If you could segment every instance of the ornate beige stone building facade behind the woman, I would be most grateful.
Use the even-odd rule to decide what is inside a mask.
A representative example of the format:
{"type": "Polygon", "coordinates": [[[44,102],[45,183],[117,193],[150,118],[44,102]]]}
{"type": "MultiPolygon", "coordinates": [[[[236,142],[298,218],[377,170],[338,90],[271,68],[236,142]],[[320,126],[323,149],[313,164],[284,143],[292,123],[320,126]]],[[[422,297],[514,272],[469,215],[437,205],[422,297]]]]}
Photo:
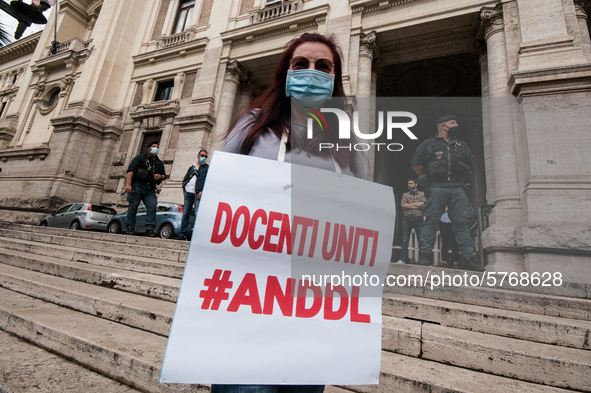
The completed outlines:
{"type": "MultiPolygon", "coordinates": [[[[198,150],[221,147],[289,40],[318,32],[342,49],[353,103],[481,98],[466,139],[472,200],[494,205],[487,269],[559,266],[588,281],[589,11],[581,0],[61,0],[57,53],[54,15],[0,49],[1,214],[125,206],[126,167],[154,138],[170,174],[159,199],[182,201],[198,150]]],[[[370,180],[399,197],[418,142],[369,152],[370,180]]]]}

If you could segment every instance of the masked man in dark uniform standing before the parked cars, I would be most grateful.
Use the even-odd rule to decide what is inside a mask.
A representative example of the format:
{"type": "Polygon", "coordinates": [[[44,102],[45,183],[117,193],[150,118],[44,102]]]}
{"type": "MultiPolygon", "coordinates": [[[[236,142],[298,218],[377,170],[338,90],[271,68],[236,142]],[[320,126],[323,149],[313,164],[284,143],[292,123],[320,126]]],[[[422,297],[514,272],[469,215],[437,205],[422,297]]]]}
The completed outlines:
{"type": "Polygon", "coordinates": [[[166,179],[164,163],[158,158],[159,143],[151,142],[147,154],[139,154],[131,160],[127,168],[125,192],[129,209],[127,210],[127,234],[135,232],[135,217],[140,201],[146,205],[146,235],[154,234],[156,226],[156,185],[166,179]]]}

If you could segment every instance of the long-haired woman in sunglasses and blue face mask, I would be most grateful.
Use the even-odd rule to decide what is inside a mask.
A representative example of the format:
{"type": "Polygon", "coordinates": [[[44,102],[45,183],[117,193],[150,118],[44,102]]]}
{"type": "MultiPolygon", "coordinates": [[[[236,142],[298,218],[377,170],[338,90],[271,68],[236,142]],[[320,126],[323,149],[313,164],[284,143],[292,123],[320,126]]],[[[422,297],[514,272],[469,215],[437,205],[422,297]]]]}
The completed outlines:
{"type": "Polygon", "coordinates": [[[322,148],[347,142],[338,139],[338,125],[331,124],[335,116],[319,111],[332,97],[343,97],[337,100],[343,106],[340,50],[331,37],[303,34],[288,45],[267,90],[230,129],[223,151],[365,178],[363,153],[322,148]],[[311,117],[318,121],[309,137],[311,117]]]}

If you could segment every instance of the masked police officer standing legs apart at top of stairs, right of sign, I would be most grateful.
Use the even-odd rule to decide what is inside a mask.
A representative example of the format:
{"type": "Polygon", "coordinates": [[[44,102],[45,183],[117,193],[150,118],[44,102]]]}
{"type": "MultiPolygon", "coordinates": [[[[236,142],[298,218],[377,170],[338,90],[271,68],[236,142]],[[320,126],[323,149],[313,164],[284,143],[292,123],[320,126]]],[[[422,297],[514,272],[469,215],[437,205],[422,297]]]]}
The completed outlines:
{"type": "Polygon", "coordinates": [[[412,159],[412,169],[419,176],[427,175],[429,183],[423,206],[426,221],[420,241],[419,264],[431,263],[430,250],[435,245],[439,219],[447,206],[456,242],[462,252],[462,267],[481,271],[474,256],[474,240],[468,226],[474,210],[464,187],[469,184],[468,175],[475,169],[474,157],[468,145],[457,139],[458,131],[455,116],[441,117],[437,120],[437,136],[421,143],[412,159]]]}

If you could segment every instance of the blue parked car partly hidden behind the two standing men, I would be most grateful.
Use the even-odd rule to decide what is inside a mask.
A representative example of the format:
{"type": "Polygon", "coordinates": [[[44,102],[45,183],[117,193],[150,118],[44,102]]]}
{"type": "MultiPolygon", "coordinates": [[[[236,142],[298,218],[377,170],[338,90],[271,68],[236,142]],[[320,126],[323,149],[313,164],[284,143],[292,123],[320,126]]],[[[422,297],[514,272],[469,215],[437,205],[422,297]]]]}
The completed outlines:
{"type": "MultiPolygon", "coordinates": [[[[172,239],[179,235],[181,231],[181,221],[183,220],[183,205],[170,202],[158,202],[156,206],[156,226],[154,232],[163,239],[172,239]]],[[[107,230],[109,233],[127,232],[127,212],[119,213],[111,218],[107,230]]],[[[189,228],[192,231],[195,224],[195,209],[191,211],[189,218],[189,228]]],[[[135,233],[146,232],[146,206],[141,204],[137,209],[135,219],[135,233]]]]}

